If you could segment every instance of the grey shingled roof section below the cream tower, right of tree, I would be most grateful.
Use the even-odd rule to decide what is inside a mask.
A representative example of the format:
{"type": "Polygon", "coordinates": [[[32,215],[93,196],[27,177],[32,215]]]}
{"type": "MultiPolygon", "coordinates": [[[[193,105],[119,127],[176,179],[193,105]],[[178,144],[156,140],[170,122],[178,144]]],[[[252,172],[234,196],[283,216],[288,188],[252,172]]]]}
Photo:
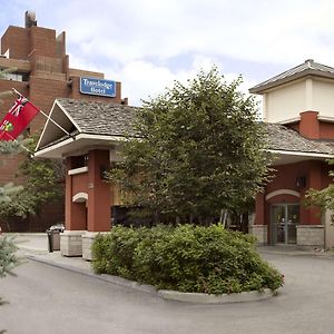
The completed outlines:
{"type": "Polygon", "coordinates": [[[268,148],[275,151],[295,151],[307,154],[334,154],[333,141],[311,140],[296,130],[278,124],[265,124],[268,148]]]}

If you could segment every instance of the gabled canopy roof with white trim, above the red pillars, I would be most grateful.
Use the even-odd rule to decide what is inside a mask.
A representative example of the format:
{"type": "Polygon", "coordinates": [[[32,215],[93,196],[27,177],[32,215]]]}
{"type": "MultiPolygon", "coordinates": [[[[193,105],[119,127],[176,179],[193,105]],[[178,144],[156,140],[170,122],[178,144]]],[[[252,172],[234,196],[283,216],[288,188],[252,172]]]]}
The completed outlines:
{"type": "Polygon", "coordinates": [[[36,148],[36,157],[78,156],[89,149],[114,147],[132,130],[138,108],[68,98],[56,99],[36,148]],[[50,118],[62,127],[55,125],[50,118]]]}

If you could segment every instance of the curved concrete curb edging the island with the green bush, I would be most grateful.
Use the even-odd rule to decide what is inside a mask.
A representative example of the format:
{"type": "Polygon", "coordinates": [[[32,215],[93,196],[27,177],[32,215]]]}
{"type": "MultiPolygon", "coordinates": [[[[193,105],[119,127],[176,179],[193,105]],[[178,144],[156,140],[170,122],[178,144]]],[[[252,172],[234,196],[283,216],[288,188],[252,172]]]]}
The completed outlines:
{"type": "Polygon", "coordinates": [[[129,281],[119,276],[112,276],[107,274],[97,275],[86,269],[81,269],[75,266],[60,264],[55,261],[49,261],[41,258],[40,256],[36,255],[27,255],[27,258],[31,261],[36,261],[39,263],[43,263],[50,266],[59,267],[62,269],[71,271],[81,275],[86,275],[89,277],[94,277],[104,282],[117,284],[120,286],[129,287],[135,291],[139,291],[143,293],[147,293],[150,295],[155,295],[160,297],[165,301],[176,301],[176,302],[184,302],[184,303],[197,303],[197,304],[227,304],[227,303],[246,303],[246,302],[258,302],[263,299],[267,299],[269,297],[276,296],[278,292],[272,292],[271,289],[266,288],[263,292],[252,291],[252,292],[243,292],[239,294],[223,294],[223,295],[209,295],[209,294],[202,294],[202,293],[183,293],[178,291],[170,291],[170,289],[159,289],[157,291],[154,286],[147,284],[139,284],[135,281],[129,281]]]}

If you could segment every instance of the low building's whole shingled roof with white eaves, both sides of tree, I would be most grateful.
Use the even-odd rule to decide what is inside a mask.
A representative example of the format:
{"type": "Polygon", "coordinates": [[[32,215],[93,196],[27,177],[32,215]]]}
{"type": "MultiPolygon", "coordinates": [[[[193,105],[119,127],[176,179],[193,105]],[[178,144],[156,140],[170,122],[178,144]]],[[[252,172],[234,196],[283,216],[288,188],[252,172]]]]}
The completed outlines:
{"type": "MultiPolygon", "coordinates": [[[[51,118],[71,134],[65,136],[52,122],[47,121],[37,153],[46,157],[56,157],[75,151],[85,145],[110,145],[122,140],[126,135],[136,136],[134,121],[139,108],[105,104],[89,100],[57,99],[51,118]],[[73,140],[75,139],[75,140],[73,140]],[[89,141],[90,140],[90,141],[89,141]]],[[[264,124],[267,129],[268,149],[283,155],[330,156],[334,154],[334,144],[311,140],[296,130],[278,124],[264,124]]]]}

